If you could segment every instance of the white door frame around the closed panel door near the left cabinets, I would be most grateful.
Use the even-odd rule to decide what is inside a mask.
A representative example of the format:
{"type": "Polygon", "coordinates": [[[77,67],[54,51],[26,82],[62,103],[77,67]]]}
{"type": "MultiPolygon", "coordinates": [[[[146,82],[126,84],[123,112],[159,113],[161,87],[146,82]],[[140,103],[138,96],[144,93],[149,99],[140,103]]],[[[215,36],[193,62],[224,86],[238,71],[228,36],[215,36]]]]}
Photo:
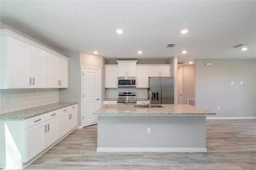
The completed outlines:
{"type": "Polygon", "coordinates": [[[81,127],[84,127],[84,81],[83,81],[83,69],[93,69],[93,70],[98,70],[99,71],[99,76],[100,76],[100,98],[101,98],[101,102],[100,102],[100,107],[102,107],[102,84],[101,84],[101,68],[96,68],[96,67],[86,67],[86,66],[81,66],[81,127]]]}

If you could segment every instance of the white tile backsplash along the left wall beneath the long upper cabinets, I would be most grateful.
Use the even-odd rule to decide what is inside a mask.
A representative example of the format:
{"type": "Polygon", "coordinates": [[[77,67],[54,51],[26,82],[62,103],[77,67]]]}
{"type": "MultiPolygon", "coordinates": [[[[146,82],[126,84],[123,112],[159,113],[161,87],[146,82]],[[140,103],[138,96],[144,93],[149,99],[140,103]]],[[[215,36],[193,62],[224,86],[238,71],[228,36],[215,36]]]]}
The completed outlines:
{"type": "Polygon", "coordinates": [[[0,114],[59,102],[59,89],[0,89],[0,114]]]}

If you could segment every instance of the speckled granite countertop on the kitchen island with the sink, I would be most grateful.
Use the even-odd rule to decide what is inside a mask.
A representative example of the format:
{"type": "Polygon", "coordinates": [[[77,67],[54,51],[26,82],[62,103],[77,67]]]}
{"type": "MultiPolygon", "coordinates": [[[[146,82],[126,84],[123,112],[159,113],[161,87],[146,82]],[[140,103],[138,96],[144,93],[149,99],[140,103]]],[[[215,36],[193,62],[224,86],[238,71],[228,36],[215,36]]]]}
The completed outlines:
{"type": "Polygon", "coordinates": [[[93,115],[216,115],[191,105],[162,105],[160,108],[134,107],[134,105],[103,105],[93,115]]]}

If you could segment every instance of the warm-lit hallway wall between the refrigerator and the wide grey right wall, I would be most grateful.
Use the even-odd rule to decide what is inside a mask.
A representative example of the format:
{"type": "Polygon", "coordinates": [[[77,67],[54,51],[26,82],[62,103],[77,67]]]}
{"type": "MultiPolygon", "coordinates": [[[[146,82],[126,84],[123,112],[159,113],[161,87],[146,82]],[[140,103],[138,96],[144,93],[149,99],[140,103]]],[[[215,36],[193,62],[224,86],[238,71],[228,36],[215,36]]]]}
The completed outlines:
{"type": "Polygon", "coordinates": [[[182,74],[182,102],[188,104],[188,98],[194,98],[194,65],[178,67],[178,75],[182,74]]]}

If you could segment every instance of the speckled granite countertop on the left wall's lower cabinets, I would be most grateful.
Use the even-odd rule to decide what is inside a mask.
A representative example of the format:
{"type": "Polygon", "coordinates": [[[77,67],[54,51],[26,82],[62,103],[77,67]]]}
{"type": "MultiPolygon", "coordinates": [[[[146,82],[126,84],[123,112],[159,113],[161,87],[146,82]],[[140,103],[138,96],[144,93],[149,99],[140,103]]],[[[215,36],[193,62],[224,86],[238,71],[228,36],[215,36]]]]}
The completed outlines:
{"type": "Polygon", "coordinates": [[[52,103],[49,105],[43,105],[38,107],[32,107],[29,109],[3,113],[3,114],[0,114],[0,119],[28,119],[38,115],[42,115],[44,113],[48,113],[64,107],[68,107],[76,103],[78,102],[58,102],[58,103],[52,103]]]}

